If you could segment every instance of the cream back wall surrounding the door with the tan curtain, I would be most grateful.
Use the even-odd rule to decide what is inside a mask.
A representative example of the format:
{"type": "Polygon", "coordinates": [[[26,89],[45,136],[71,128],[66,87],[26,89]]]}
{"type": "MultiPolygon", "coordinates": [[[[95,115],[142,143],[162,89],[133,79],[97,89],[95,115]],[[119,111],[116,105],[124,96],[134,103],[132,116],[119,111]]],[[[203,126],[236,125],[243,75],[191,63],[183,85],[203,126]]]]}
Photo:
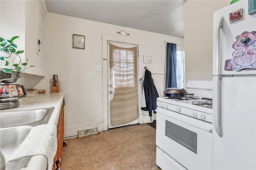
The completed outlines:
{"type": "Polygon", "coordinates": [[[104,109],[102,35],[142,41],[140,56],[151,55],[152,64],[143,63],[140,57],[138,76],[139,78],[142,76],[144,66],[147,66],[152,72],[159,96],[162,96],[164,91],[166,58],[164,42],[184,43],[183,38],[179,37],[59,14],[46,14],[46,76],[44,78],[27,77],[22,84],[28,87],[40,81],[31,88],[44,88],[49,92],[52,89],[52,75],[58,74],[60,92],[64,92],[66,101],[65,137],[77,135],[77,130],[90,129],[88,127],[98,127],[98,131],[102,131],[104,109]],[[130,35],[124,36],[116,33],[123,29],[130,35]],[[72,34],[85,35],[85,49],[72,48],[72,34]],[[101,71],[95,71],[96,65],[101,66],[101,71]]]}

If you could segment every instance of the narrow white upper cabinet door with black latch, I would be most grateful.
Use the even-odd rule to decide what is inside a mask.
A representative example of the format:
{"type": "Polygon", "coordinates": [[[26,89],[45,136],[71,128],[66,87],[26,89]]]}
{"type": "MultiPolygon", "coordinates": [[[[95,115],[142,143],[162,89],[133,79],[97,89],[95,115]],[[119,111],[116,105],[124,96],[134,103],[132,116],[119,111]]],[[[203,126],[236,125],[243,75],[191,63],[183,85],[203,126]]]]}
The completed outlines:
{"type": "MultiPolygon", "coordinates": [[[[45,47],[45,13],[40,0],[36,1],[36,41],[40,40],[40,45],[38,44],[37,49],[37,62],[36,68],[38,70],[37,74],[40,76],[45,76],[45,56],[44,56],[44,47],[45,47]]],[[[38,42],[39,43],[39,42],[38,42]]]]}

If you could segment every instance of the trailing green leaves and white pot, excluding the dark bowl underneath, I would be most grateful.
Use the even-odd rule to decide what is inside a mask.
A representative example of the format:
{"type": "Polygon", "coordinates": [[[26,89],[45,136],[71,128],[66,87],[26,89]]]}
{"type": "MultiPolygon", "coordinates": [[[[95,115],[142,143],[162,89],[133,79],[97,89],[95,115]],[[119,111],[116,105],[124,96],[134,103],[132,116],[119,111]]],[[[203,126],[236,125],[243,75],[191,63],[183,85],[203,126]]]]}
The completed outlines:
{"type": "Polygon", "coordinates": [[[21,57],[19,54],[24,53],[24,50],[17,51],[17,45],[13,42],[18,37],[19,36],[12,37],[10,40],[0,37],[0,68],[5,73],[12,73],[12,70],[22,72],[30,67],[34,67],[29,66],[28,68],[26,68],[28,63],[21,62],[21,57]],[[17,56],[20,58],[20,61],[19,63],[14,63],[17,56]]]}

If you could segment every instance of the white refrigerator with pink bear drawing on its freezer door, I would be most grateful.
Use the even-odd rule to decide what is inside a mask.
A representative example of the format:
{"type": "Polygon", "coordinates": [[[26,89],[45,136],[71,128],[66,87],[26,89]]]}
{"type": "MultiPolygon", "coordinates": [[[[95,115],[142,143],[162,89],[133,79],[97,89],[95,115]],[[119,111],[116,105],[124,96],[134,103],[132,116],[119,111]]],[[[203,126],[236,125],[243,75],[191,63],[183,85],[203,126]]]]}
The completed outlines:
{"type": "Polygon", "coordinates": [[[256,169],[256,14],[214,13],[212,169],[256,169]],[[254,63],[255,62],[255,63],[254,63]]]}

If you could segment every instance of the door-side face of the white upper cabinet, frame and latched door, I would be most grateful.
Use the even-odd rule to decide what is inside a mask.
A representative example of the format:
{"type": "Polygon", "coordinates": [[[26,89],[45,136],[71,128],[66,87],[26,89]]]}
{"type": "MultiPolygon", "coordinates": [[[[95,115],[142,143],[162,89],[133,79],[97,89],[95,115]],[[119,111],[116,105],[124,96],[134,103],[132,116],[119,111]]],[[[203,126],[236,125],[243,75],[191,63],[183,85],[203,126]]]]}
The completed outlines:
{"type": "Polygon", "coordinates": [[[44,9],[40,0],[25,2],[25,61],[28,61],[28,66],[35,65],[35,67],[31,67],[25,72],[45,76],[44,9]]]}

